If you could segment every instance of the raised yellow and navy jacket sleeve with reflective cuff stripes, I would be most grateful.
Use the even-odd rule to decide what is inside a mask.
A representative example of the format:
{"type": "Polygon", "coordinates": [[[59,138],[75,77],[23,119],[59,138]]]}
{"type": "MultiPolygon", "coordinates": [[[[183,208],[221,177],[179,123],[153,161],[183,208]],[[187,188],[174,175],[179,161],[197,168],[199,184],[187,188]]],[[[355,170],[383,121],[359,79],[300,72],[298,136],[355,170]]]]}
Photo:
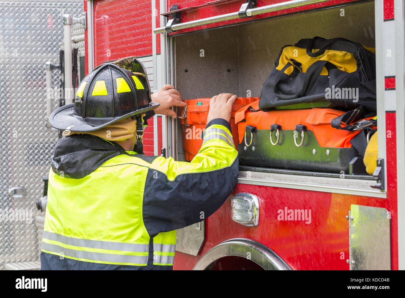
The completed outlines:
{"type": "Polygon", "coordinates": [[[152,161],[143,196],[143,221],[150,235],[200,222],[224,204],[239,174],[230,131],[226,120],[214,119],[190,163],[171,157],[152,161]]]}

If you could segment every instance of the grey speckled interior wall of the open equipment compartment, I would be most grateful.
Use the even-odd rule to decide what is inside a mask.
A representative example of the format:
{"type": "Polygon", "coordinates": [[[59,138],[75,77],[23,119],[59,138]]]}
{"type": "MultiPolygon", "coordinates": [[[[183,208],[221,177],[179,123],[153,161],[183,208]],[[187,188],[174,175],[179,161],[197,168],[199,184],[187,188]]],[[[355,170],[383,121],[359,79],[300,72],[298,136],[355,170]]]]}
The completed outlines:
{"type": "MultiPolygon", "coordinates": [[[[183,99],[222,92],[260,96],[284,45],[321,36],[343,37],[374,47],[374,32],[371,1],[179,35],[174,37],[175,86],[183,99]]],[[[179,120],[176,123],[178,150],[174,155],[183,160],[181,124],[179,120]]]]}

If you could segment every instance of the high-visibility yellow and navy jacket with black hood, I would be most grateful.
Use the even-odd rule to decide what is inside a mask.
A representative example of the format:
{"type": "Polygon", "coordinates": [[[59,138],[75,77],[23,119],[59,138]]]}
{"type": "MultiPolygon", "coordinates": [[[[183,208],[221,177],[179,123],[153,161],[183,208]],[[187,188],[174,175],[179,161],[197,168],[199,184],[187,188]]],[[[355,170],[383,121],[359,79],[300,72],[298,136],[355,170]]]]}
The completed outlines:
{"type": "Polygon", "coordinates": [[[92,135],[55,146],[41,269],[172,269],[176,229],[209,217],[237,182],[230,125],[211,121],[194,159],[146,156],[92,135]]]}

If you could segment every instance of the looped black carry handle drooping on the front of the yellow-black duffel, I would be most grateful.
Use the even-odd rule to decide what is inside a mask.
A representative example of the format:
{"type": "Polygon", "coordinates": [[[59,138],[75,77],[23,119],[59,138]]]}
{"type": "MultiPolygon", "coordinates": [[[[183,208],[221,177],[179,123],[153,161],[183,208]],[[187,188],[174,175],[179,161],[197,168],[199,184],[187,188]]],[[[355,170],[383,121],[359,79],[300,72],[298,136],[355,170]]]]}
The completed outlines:
{"type": "Polygon", "coordinates": [[[290,62],[288,62],[283,67],[283,69],[281,69],[281,71],[279,71],[279,73],[277,73],[277,76],[274,81],[274,94],[280,99],[295,99],[295,98],[299,98],[299,97],[303,97],[303,96],[307,95],[309,93],[309,91],[311,91],[313,85],[315,85],[315,82],[318,79],[318,77],[320,76],[320,73],[322,72],[322,69],[324,67],[326,67],[326,69],[328,71],[330,71],[330,69],[337,68],[334,64],[330,63],[329,61],[318,60],[318,61],[312,63],[308,67],[307,71],[305,72],[305,76],[304,76],[303,88],[300,91],[298,91],[297,94],[295,94],[295,95],[279,94],[276,92],[277,84],[279,83],[284,71],[286,71],[286,69],[290,66],[297,67],[294,64],[291,64],[290,62]]]}

